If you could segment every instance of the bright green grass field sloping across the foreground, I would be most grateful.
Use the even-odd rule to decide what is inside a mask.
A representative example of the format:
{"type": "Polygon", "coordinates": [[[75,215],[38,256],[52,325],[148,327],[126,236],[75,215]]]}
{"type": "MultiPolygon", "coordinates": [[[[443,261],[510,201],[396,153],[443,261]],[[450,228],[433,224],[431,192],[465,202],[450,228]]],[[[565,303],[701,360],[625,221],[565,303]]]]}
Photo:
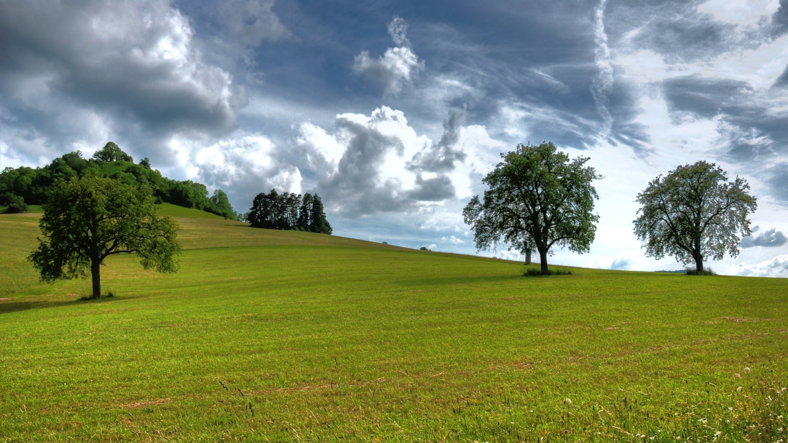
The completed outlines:
{"type": "Polygon", "coordinates": [[[788,279],[522,277],[161,211],[180,272],[114,257],[91,301],[36,281],[37,214],[0,215],[0,441],[788,437],[788,279]]]}

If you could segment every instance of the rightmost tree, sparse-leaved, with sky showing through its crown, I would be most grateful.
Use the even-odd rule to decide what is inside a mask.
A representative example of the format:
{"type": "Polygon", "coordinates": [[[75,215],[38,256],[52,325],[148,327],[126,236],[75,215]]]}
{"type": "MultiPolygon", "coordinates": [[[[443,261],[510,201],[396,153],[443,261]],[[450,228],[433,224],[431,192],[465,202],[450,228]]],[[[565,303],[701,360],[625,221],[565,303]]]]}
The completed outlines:
{"type": "Polygon", "coordinates": [[[656,177],[637,194],[639,216],[634,232],[646,255],[661,259],[675,256],[678,262],[695,262],[703,273],[704,258],[723,259],[738,255],[742,236],[749,236],[750,212],[757,208],[743,178],[729,182],[725,171],[704,161],[678,166],[667,176],[656,177]]]}

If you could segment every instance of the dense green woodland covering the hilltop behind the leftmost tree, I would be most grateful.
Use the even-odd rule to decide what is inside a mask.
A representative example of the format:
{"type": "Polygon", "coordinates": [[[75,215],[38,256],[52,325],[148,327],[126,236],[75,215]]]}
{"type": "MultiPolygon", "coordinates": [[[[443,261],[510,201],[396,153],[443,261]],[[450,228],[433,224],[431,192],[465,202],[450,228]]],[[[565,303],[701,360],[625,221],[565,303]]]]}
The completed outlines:
{"type": "Polygon", "coordinates": [[[9,212],[24,212],[28,204],[40,205],[46,202],[47,192],[55,181],[85,176],[109,177],[135,187],[148,184],[153,189],[157,203],[173,203],[232,220],[238,219],[238,214],[221,189],[209,196],[205,184],[162,177],[158,170],[151,169],[151,162],[147,158],[135,164],[131,155],[112,142],[106,143],[93,158],[83,158],[80,151],[73,151],[43,167],[3,169],[0,173],[0,206],[8,207],[9,212]]]}

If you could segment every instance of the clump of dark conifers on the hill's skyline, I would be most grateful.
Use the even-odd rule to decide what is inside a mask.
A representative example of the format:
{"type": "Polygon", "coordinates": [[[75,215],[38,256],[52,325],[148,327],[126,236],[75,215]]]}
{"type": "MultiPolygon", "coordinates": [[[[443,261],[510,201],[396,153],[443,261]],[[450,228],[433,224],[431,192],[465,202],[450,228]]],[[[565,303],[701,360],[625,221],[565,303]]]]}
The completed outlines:
{"type": "Polygon", "coordinates": [[[261,192],[255,197],[246,218],[255,228],[332,232],[320,196],[308,192],[303,197],[292,192],[279,194],[275,189],[268,194],[261,192]]]}

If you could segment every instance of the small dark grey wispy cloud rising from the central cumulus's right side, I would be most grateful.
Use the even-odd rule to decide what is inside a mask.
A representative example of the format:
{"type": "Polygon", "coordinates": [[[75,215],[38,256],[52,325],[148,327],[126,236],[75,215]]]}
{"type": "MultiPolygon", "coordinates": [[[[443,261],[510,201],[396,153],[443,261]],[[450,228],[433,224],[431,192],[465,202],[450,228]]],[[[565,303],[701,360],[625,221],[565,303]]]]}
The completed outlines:
{"type": "MultiPolygon", "coordinates": [[[[429,151],[419,152],[407,169],[445,173],[455,168],[455,162],[462,162],[467,157],[463,151],[455,149],[459,141],[459,130],[463,127],[465,112],[457,108],[448,110],[448,119],[444,121],[444,132],[438,143],[433,144],[429,151]]],[[[453,192],[452,192],[453,194],[453,192]]]]}

